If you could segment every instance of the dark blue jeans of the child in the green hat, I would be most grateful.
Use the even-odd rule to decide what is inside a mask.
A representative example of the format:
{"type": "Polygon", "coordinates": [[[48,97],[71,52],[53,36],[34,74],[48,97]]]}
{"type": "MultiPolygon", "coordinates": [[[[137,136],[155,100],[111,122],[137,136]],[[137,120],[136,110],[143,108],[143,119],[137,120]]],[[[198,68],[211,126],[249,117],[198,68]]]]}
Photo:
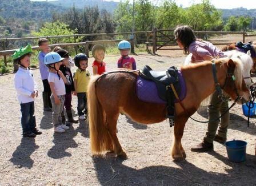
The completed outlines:
{"type": "Polygon", "coordinates": [[[35,128],[34,102],[21,103],[21,127],[23,133],[33,132],[35,128]]]}

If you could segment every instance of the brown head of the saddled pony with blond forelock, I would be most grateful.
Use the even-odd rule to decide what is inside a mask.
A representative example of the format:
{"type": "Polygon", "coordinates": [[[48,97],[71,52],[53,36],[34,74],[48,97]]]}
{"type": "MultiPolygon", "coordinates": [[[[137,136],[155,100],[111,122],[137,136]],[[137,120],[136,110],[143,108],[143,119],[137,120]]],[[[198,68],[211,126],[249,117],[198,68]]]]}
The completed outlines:
{"type": "MultiPolygon", "coordinates": [[[[237,103],[242,104],[249,101],[250,92],[243,79],[243,63],[239,58],[219,58],[217,61],[222,62],[222,68],[225,68],[226,79],[222,86],[232,99],[237,100],[237,103]]],[[[250,72],[250,69],[247,70],[250,72]]]]}

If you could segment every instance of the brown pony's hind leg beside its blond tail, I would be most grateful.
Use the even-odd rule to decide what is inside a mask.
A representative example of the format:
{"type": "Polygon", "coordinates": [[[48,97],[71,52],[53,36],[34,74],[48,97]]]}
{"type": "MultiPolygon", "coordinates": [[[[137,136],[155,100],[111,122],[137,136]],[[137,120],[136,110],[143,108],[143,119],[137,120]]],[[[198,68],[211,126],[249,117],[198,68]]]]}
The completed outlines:
{"type": "Polygon", "coordinates": [[[126,153],[123,151],[121,144],[117,138],[117,116],[107,116],[107,130],[109,131],[109,136],[113,143],[113,150],[118,157],[122,159],[127,159],[126,153]]]}

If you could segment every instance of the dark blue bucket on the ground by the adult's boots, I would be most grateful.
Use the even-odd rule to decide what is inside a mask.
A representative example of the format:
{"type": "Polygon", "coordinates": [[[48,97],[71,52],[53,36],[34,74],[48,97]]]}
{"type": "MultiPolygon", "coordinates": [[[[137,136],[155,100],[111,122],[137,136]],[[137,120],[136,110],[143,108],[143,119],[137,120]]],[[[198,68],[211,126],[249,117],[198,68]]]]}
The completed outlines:
{"type": "Polygon", "coordinates": [[[233,140],[227,141],[225,143],[227,148],[227,156],[229,157],[230,161],[233,162],[242,162],[245,161],[246,156],[246,141],[241,140],[233,140]]]}

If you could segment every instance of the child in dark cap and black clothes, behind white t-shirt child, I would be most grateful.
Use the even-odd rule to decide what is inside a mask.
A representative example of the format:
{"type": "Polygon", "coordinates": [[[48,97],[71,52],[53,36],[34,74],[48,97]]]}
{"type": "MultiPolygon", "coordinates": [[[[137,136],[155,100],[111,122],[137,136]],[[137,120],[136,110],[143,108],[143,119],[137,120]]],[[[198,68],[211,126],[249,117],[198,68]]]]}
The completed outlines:
{"type": "Polygon", "coordinates": [[[65,102],[64,106],[67,112],[67,123],[64,115],[64,110],[62,111],[62,123],[66,123],[66,126],[69,126],[70,123],[78,123],[78,120],[73,119],[72,111],[71,111],[71,101],[72,101],[72,92],[75,91],[74,88],[74,81],[73,76],[70,71],[69,65],[69,52],[63,49],[57,50],[57,53],[64,58],[59,70],[62,71],[63,75],[67,79],[67,83],[65,84],[66,87],[66,95],[65,95],[65,102]]]}

